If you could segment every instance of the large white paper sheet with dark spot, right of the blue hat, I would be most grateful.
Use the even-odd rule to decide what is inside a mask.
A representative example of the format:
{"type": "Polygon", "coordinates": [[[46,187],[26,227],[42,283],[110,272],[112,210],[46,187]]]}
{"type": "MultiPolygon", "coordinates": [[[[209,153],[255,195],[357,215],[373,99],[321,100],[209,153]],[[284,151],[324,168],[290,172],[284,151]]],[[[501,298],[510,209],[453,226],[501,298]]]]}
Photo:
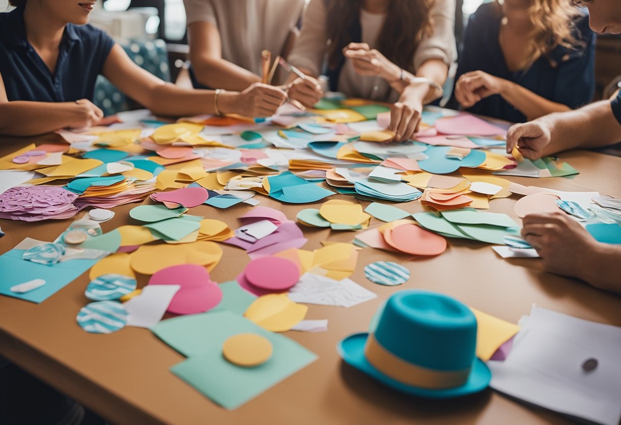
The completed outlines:
{"type": "Polygon", "coordinates": [[[489,361],[497,391],[571,416],[617,425],[621,419],[621,327],[534,306],[504,362],[489,361]],[[587,359],[597,368],[582,369],[587,359]]]}

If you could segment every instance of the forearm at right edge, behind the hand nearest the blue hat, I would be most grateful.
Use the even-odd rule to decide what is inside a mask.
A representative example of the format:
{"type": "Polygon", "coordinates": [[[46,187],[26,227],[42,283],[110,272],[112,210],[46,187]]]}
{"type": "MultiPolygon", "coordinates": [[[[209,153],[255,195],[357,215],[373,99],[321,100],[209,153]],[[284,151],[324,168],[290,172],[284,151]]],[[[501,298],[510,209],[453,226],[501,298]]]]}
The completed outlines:
{"type": "Polygon", "coordinates": [[[598,242],[587,255],[589,267],[579,277],[596,288],[621,294],[621,246],[598,242]]]}

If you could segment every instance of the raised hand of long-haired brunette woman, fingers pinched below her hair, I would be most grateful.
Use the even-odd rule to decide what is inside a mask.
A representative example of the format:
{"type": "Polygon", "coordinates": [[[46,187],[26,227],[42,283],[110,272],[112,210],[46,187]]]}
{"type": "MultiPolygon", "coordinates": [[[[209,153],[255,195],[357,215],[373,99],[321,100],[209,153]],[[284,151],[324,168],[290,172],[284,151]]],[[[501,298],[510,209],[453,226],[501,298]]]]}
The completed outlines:
{"type": "Polygon", "coordinates": [[[380,76],[389,82],[401,78],[401,68],[390,62],[378,50],[367,43],[349,43],[343,48],[343,55],[351,59],[356,73],[366,76],[380,76]]]}

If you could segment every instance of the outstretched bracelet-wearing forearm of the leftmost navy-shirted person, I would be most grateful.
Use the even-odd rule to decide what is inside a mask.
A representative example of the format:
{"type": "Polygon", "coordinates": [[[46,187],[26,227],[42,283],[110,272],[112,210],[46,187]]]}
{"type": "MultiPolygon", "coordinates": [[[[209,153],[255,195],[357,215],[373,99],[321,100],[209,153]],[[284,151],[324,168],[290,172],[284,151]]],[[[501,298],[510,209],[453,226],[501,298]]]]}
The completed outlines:
{"type": "MultiPolygon", "coordinates": [[[[237,92],[224,91],[218,96],[218,112],[233,113],[232,100],[237,92]]],[[[215,92],[212,90],[187,90],[170,83],[150,91],[145,107],[161,116],[193,116],[215,114],[215,92]]]]}

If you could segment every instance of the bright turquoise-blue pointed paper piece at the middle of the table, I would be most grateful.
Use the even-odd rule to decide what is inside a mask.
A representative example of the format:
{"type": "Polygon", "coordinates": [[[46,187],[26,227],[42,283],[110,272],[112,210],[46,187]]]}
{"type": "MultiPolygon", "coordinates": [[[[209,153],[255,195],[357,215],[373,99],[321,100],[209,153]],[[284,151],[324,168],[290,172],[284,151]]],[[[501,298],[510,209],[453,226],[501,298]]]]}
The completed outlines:
{"type": "Polygon", "coordinates": [[[303,204],[319,201],[334,192],[309,183],[290,171],[278,176],[268,177],[270,197],[290,204],[303,204]]]}

